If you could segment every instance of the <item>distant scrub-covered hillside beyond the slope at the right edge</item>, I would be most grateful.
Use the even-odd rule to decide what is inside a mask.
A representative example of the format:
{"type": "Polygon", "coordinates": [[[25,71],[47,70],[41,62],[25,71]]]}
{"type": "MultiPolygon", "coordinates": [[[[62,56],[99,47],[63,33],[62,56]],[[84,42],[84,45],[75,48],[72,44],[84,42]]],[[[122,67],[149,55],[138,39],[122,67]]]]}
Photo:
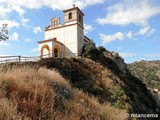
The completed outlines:
{"type": "Polygon", "coordinates": [[[160,89],[160,61],[140,61],[128,64],[130,72],[148,87],[160,89]]]}

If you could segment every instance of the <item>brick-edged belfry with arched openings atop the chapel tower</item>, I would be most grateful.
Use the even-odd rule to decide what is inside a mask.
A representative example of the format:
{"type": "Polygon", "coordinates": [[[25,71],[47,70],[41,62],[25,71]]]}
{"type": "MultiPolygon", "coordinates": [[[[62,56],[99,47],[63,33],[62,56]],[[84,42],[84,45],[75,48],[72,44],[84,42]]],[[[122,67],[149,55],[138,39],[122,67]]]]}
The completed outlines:
{"type": "Polygon", "coordinates": [[[64,10],[63,13],[64,13],[64,25],[77,23],[81,27],[83,27],[84,14],[78,7],[75,7],[74,4],[72,8],[64,10]]]}

